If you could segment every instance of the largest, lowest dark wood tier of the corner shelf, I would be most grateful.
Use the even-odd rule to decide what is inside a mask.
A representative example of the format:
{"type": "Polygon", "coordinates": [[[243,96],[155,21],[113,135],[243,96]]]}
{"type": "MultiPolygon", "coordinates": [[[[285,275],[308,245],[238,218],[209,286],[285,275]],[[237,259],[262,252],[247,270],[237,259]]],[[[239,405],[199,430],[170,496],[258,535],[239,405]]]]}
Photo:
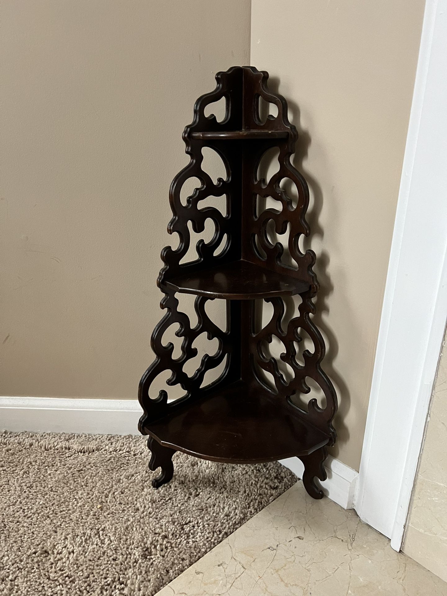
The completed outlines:
{"type": "Polygon", "coordinates": [[[146,421],[144,432],[176,451],[234,464],[308,455],[330,440],[284,399],[242,381],[146,421]]]}

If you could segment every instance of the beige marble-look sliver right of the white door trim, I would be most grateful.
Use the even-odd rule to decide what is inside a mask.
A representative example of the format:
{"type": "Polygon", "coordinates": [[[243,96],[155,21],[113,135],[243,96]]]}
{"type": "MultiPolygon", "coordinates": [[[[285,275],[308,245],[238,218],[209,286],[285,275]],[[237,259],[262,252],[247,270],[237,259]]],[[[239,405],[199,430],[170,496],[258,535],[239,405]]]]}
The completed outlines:
{"type": "Polygon", "coordinates": [[[403,552],[447,582],[447,353],[440,359],[403,552]]]}

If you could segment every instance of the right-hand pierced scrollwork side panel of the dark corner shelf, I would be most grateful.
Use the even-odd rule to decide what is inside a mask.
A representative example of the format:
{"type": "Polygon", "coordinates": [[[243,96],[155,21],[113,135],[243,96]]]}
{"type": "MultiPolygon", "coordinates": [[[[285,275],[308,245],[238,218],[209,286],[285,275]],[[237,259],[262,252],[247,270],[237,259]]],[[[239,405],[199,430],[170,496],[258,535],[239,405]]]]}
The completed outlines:
{"type": "MultiPolygon", "coordinates": [[[[271,144],[260,146],[257,152],[252,154],[252,172],[253,182],[250,188],[250,214],[247,219],[247,226],[250,229],[250,246],[246,248],[245,256],[254,263],[261,262],[266,269],[276,272],[282,272],[291,277],[296,277],[309,284],[309,289],[300,294],[302,299],[298,308],[298,316],[288,322],[287,329],[281,327],[284,318],[284,302],[281,297],[267,298],[274,308],[271,321],[259,332],[255,333],[252,327],[250,345],[250,357],[252,359],[253,371],[256,373],[256,367],[262,368],[266,373],[274,377],[275,389],[278,396],[284,397],[287,401],[297,407],[291,397],[296,393],[307,394],[311,388],[306,383],[306,377],[312,378],[325,396],[325,407],[321,408],[316,399],[311,399],[308,403],[308,411],[302,411],[303,417],[319,429],[330,433],[331,443],[336,440],[336,433],[332,426],[332,420],[337,411],[337,396],[328,376],[321,368],[321,362],[325,354],[325,344],[322,335],[316,325],[313,323],[311,315],[315,313],[313,299],[318,291],[318,281],[313,265],[315,264],[315,253],[312,250],[302,252],[299,248],[300,237],[307,237],[310,233],[308,222],[306,221],[306,210],[309,205],[309,188],[303,176],[290,163],[291,155],[294,153],[295,142],[297,140],[296,128],[290,124],[287,117],[287,103],[281,95],[275,95],[268,91],[266,82],[268,75],[262,73],[257,87],[257,97],[262,97],[276,105],[278,116],[276,118],[269,116],[265,126],[277,126],[290,132],[287,140],[279,141],[278,163],[279,169],[271,178],[266,181],[263,178],[256,179],[254,175],[258,171],[259,162],[263,154],[271,144]],[[288,196],[284,188],[284,181],[290,181],[292,187],[296,190],[297,200],[293,201],[288,196]],[[264,209],[258,213],[257,197],[271,197],[275,201],[275,207],[264,209]],[[276,203],[278,207],[276,208],[276,203]],[[283,235],[288,230],[287,245],[277,242],[273,244],[269,239],[268,226],[272,225],[277,234],[283,235]],[[296,263],[296,266],[285,265],[282,262],[284,251],[296,263]],[[265,256],[264,256],[265,255],[265,256]],[[313,351],[304,350],[304,364],[296,360],[296,347],[294,342],[301,342],[300,330],[305,331],[313,343],[313,351]],[[293,378],[290,381],[285,380],[281,374],[278,362],[275,358],[267,358],[262,350],[262,343],[265,340],[270,343],[272,337],[276,336],[283,342],[285,352],[280,358],[285,364],[291,367],[293,378]]],[[[254,114],[254,119],[259,118],[259,114],[254,114]]],[[[254,307],[253,307],[254,311],[254,307]]],[[[254,312],[252,315],[254,321],[254,312]]],[[[257,378],[260,383],[262,379],[257,378]]]]}

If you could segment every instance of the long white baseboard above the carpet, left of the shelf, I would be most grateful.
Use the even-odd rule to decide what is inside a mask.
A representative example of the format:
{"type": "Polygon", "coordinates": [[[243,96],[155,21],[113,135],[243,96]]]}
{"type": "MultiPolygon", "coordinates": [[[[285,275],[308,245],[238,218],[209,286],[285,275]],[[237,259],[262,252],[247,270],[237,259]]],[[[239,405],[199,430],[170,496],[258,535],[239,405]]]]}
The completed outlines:
{"type": "Polygon", "coordinates": [[[0,430],[139,434],[135,399],[2,398],[0,430]]]}

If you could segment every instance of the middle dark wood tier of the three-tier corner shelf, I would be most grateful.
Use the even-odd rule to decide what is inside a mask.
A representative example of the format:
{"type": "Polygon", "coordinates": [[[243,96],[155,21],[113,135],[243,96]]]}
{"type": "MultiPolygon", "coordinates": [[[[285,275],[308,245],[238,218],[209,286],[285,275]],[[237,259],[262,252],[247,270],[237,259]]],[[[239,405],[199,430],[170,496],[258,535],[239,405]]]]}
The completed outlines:
{"type": "Polygon", "coordinates": [[[309,290],[308,282],[265,269],[246,260],[237,260],[197,272],[193,270],[172,279],[165,278],[164,285],[183,294],[226,300],[294,296],[309,290]]]}

